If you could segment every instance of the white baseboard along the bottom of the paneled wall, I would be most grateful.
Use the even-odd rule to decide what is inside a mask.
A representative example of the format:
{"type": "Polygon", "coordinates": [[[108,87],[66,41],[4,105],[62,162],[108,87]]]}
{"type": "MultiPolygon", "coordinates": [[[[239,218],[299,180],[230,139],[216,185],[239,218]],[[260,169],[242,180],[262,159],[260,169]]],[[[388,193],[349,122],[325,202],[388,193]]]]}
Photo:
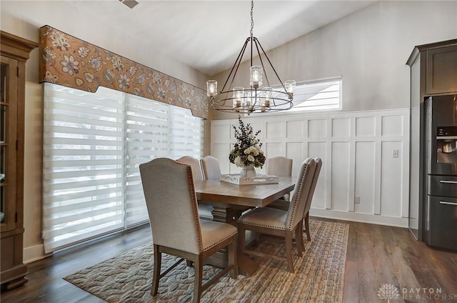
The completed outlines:
{"type": "Polygon", "coordinates": [[[332,209],[313,208],[309,210],[309,214],[313,217],[408,228],[408,218],[403,217],[385,217],[377,214],[359,214],[355,212],[341,212],[332,209]]]}

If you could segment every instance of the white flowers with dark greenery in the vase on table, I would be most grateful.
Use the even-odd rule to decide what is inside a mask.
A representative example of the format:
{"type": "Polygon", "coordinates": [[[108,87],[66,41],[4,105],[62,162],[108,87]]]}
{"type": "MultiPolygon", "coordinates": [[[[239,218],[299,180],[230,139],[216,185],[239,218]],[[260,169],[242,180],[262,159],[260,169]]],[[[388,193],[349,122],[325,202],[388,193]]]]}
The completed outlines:
{"type": "Polygon", "coordinates": [[[238,128],[233,125],[238,142],[233,145],[229,154],[230,162],[237,167],[253,165],[253,167],[262,168],[265,164],[265,155],[261,150],[262,144],[256,139],[260,130],[254,133],[251,124],[244,124],[241,116],[238,116],[238,122],[238,128]]]}

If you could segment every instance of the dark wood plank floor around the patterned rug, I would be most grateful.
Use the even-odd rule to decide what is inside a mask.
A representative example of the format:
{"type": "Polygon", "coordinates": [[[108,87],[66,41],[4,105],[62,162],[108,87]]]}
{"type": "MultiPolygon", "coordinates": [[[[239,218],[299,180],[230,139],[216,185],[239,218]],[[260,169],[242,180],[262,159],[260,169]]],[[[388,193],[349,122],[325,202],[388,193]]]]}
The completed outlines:
{"type": "MultiPolygon", "coordinates": [[[[387,302],[378,297],[384,284],[394,285],[399,291],[392,303],[457,302],[457,253],[417,242],[408,229],[347,223],[344,302],[387,302]]],[[[29,282],[2,292],[0,301],[104,302],[62,278],[149,241],[148,226],[56,252],[29,264],[29,282]]]]}

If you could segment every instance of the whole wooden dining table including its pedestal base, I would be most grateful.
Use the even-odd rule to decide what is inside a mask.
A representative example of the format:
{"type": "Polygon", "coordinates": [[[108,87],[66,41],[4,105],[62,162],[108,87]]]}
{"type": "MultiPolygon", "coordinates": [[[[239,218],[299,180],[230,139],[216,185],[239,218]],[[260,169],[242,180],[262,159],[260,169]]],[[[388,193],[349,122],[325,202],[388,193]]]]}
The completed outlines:
{"type": "MultiPolygon", "coordinates": [[[[256,184],[233,184],[218,179],[194,181],[196,197],[199,204],[210,204],[213,207],[211,212],[213,220],[225,222],[236,227],[238,218],[243,212],[255,207],[265,207],[284,194],[293,191],[295,177],[278,177],[277,183],[256,183],[256,184]]],[[[246,237],[247,241],[251,241],[246,237]]],[[[207,261],[208,264],[225,267],[227,264],[226,251],[217,252],[207,261]]],[[[238,272],[251,276],[258,264],[241,253],[238,247],[238,272]]]]}

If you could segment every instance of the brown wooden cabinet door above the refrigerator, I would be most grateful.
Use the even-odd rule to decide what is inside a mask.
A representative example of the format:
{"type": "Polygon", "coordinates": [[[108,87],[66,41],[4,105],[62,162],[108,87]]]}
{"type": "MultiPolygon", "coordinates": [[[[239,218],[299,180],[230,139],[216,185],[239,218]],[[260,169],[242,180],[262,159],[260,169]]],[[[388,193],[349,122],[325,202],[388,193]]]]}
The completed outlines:
{"type": "Polygon", "coordinates": [[[427,51],[426,93],[457,91],[457,46],[427,51]]]}

